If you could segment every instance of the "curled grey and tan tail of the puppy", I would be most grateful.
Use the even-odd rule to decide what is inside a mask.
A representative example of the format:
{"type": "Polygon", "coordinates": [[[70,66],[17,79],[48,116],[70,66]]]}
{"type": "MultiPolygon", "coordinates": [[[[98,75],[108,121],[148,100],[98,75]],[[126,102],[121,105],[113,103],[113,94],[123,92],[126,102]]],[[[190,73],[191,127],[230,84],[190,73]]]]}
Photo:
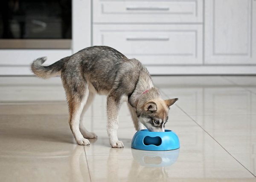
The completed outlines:
{"type": "Polygon", "coordinates": [[[33,61],[31,64],[32,72],[40,78],[50,78],[54,76],[61,75],[61,70],[64,65],[64,60],[61,59],[52,65],[49,66],[42,66],[42,64],[47,60],[47,57],[40,57],[33,61]]]}

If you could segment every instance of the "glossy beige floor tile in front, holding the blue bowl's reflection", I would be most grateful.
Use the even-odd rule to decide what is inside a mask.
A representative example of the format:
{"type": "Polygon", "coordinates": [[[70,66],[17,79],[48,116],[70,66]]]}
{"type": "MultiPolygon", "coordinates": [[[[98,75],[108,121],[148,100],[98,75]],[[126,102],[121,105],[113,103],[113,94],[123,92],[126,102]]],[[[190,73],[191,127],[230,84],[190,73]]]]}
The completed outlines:
{"type": "Polygon", "coordinates": [[[215,155],[150,155],[137,151],[128,156],[87,156],[93,181],[254,181],[232,156],[215,155]],[[163,160],[169,160],[164,163],[163,160]],[[167,163],[167,162],[166,162],[167,163]],[[186,165],[184,165],[186,164],[186,165]],[[100,172],[99,172],[100,171],[100,172]],[[100,173],[100,174],[99,174],[100,173]]]}

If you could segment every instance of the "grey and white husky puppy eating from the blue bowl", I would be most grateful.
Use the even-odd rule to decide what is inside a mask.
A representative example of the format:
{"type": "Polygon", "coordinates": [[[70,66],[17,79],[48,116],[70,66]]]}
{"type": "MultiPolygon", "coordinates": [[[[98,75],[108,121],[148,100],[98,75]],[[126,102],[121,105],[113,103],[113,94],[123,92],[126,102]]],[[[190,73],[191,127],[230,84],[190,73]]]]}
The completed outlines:
{"type": "Polygon", "coordinates": [[[122,102],[128,102],[137,131],[143,129],[143,125],[149,131],[164,131],[169,107],[178,100],[161,99],[160,91],[154,87],[142,63],[128,59],[111,47],[84,48],[52,65],[42,66],[46,60],[46,57],[34,60],[31,70],[44,79],[61,75],[70,128],[79,145],[90,145],[87,138],[97,137],[87,131],[81,122],[95,94],[107,95],[107,131],[113,148],[124,146],[117,138],[118,113],[122,102]]]}

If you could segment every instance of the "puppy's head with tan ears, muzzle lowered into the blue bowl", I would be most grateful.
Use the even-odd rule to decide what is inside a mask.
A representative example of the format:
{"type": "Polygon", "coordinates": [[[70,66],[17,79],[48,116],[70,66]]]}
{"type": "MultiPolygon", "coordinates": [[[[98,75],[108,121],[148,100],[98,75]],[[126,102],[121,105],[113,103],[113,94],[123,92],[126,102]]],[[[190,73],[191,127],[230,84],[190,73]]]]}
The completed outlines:
{"type": "Polygon", "coordinates": [[[164,131],[168,121],[168,112],[171,105],[178,99],[163,100],[160,98],[147,101],[140,108],[139,121],[148,131],[164,131]]]}

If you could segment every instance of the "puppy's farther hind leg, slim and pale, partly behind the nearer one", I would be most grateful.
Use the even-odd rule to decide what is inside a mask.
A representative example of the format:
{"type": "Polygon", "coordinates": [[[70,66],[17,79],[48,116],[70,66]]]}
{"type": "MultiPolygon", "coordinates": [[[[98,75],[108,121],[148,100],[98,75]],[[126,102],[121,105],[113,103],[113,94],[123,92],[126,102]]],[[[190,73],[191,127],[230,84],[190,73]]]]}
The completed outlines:
{"type": "Polygon", "coordinates": [[[87,102],[84,105],[84,109],[83,109],[81,117],[80,117],[79,129],[81,131],[81,134],[84,136],[84,138],[97,138],[97,135],[93,132],[87,131],[87,129],[84,127],[84,124],[83,124],[84,114],[90,107],[91,103],[93,102],[94,97],[95,97],[95,93],[90,91],[89,96],[87,98],[87,102]]]}

